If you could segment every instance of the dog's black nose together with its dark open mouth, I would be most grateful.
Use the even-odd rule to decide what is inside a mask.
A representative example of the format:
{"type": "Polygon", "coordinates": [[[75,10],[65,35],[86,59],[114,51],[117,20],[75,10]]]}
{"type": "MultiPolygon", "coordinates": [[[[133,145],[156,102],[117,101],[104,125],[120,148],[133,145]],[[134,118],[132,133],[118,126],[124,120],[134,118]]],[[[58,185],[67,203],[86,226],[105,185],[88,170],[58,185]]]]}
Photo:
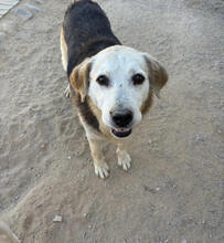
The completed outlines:
{"type": "Polygon", "coordinates": [[[134,114],[129,109],[120,109],[110,112],[111,119],[114,123],[114,127],[111,128],[111,133],[118,137],[124,138],[131,134],[130,124],[134,118],[134,114]]]}

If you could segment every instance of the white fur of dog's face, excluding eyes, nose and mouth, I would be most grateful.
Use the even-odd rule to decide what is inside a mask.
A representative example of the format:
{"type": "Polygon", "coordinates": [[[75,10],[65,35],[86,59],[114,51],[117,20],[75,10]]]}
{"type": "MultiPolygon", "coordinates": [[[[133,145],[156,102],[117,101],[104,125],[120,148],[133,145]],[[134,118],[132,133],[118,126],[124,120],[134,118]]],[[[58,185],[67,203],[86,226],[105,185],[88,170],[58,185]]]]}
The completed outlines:
{"type": "Polygon", "coordinates": [[[129,109],[134,113],[131,127],[141,122],[141,105],[149,93],[148,67],[140,53],[131,47],[115,45],[108,47],[93,59],[88,95],[102,110],[104,125],[114,127],[110,110],[129,109]],[[132,75],[142,74],[146,80],[141,85],[132,84],[132,75]],[[109,86],[99,85],[99,75],[109,78],[109,86]]]}

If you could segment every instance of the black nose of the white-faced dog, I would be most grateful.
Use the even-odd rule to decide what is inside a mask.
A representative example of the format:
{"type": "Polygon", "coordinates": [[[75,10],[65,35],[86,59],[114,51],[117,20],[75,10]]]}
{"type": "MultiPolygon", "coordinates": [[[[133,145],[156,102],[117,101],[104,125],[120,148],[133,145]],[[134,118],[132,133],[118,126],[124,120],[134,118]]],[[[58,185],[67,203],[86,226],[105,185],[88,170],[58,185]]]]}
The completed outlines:
{"type": "Polygon", "coordinates": [[[126,127],[127,125],[130,124],[130,122],[134,118],[132,112],[125,109],[125,110],[115,110],[110,112],[113,122],[118,126],[118,127],[126,127]]]}

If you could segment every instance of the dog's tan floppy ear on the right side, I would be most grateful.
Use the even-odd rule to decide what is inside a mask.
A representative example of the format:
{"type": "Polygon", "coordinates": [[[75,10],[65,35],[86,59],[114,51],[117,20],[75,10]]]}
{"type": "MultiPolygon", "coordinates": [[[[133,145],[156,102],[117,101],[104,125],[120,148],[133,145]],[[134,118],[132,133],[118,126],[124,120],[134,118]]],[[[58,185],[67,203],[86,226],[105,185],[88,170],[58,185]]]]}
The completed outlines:
{"type": "Polygon", "coordinates": [[[149,68],[149,81],[152,87],[152,91],[160,98],[160,89],[168,82],[168,73],[166,68],[152,56],[145,54],[147,66],[149,68]]]}

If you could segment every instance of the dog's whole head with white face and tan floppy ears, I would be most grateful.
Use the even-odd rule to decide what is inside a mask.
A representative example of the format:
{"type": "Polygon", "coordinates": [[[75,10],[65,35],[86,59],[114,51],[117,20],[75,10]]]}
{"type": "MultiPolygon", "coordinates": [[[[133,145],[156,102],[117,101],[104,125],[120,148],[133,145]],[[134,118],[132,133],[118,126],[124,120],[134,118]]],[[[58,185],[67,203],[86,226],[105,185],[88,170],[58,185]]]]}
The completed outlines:
{"type": "Polygon", "coordinates": [[[86,59],[71,74],[71,84],[102,112],[104,125],[116,138],[131,134],[168,81],[166,70],[150,55],[116,45],[86,59]]]}

